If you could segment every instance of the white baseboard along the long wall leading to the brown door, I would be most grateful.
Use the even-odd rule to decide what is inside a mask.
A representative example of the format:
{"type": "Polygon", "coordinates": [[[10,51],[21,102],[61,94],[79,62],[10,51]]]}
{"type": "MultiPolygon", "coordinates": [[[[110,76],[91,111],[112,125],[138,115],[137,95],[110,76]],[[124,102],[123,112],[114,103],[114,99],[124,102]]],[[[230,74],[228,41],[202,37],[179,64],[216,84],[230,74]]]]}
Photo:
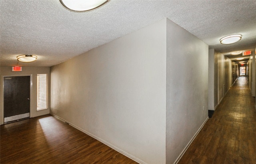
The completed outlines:
{"type": "Polygon", "coordinates": [[[142,160],[140,160],[140,159],[138,159],[138,158],[132,156],[131,154],[129,154],[129,153],[127,153],[127,152],[124,152],[123,150],[117,148],[116,146],[114,146],[114,145],[112,145],[112,144],[106,142],[105,140],[102,140],[101,138],[98,138],[97,136],[94,136],[94,135],[91,134],[90,132],[87,132],[86,130],[83,130],[82,128],[79,128],[78,126],[67,122],[66,120],[60,118],[59,116],[56,116],[55,114],[52,114],[52,113],[50,113],[50,114],[51,114],[52,116],[54,116],[55,118],[58,118],[59,120],[61,120],[61,121],[63,121],[63,122],[66,122],[66,123],[69,124],[70,126],[73,126],[74,128],[76,128],[76,129],[80,130],[81,132],[87,134],[88,136],[91,136],[92,138],[94,138],[94,139],[96,139],[96,140],[102,142],[103,144],[109,146],[110,148],[116,150],[117,152],[120,152],[121,154],[123,154],[124,156],[126,156],[126,157],[128,157],[128,158],[134,160],[135,162],[138,162],[139,164],[146,164],[146,162],[144,162],[144,161],[142,161],[142,160]]]}

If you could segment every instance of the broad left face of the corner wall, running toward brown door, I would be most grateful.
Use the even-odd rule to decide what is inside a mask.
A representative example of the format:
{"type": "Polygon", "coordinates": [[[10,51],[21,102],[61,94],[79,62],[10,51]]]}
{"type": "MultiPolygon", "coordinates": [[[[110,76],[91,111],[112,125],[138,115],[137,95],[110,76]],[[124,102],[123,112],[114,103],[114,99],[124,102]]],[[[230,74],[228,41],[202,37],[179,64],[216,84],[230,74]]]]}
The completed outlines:
{"type": "Polygon", "coordinates": [[[166,19],[51,67],[51,113],[147,164],[166,162],[166,19]]]}

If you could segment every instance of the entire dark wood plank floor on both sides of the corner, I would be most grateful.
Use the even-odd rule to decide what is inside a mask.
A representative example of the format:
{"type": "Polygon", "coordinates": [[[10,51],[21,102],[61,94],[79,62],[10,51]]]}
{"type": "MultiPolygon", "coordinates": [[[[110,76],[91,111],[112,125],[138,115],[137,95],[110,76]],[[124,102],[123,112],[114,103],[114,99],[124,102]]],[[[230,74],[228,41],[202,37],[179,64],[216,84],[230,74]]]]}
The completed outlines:
{"type": "MultiPolygon", "coordinates": [[[[51,115],[1,125],[1,164],[136,164],[51,115]]],[[[179,164],[256,164],[256,110],[240,77],[179,164]]]]}

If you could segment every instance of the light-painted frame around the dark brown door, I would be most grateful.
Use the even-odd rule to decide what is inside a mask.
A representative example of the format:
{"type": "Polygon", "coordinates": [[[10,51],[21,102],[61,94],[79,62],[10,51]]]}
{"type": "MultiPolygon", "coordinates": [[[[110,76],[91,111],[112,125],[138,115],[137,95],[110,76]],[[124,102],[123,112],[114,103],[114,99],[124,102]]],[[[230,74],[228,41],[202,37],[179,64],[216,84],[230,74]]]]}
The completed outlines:
{"type": "Polygon", "coordinates": [[[15,77],[15,76],[30,76],[30,118],[32,118],[32,113],[31,113],[31,106],[32,106],[32,100],[34,99],[33,97],[32,97],[32,74],[22,74],[22,75],[12,75],[12,74],[10,74],[10,75],[2,75],[1,76],[1,90],[3,91],[3,92],[1,92],[1,113],[0,113],[0,122],[1,122],[1,125],[2,124],[4,124],[4,78],[6,77],[6,76],[11,76],[11,77],[15,77]]]}

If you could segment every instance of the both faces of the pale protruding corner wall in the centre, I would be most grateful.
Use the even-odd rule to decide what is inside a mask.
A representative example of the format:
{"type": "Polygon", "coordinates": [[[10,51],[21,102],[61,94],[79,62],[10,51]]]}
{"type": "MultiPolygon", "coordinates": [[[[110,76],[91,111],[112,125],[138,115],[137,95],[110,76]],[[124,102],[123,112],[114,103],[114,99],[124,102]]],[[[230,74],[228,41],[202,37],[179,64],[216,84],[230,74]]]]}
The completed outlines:
{"type": "Polygon", "coordinates": [[[50,112],[140,163],[175,162],[208,118],[208,46],[168,19],[50,72],[50,112]]]}

